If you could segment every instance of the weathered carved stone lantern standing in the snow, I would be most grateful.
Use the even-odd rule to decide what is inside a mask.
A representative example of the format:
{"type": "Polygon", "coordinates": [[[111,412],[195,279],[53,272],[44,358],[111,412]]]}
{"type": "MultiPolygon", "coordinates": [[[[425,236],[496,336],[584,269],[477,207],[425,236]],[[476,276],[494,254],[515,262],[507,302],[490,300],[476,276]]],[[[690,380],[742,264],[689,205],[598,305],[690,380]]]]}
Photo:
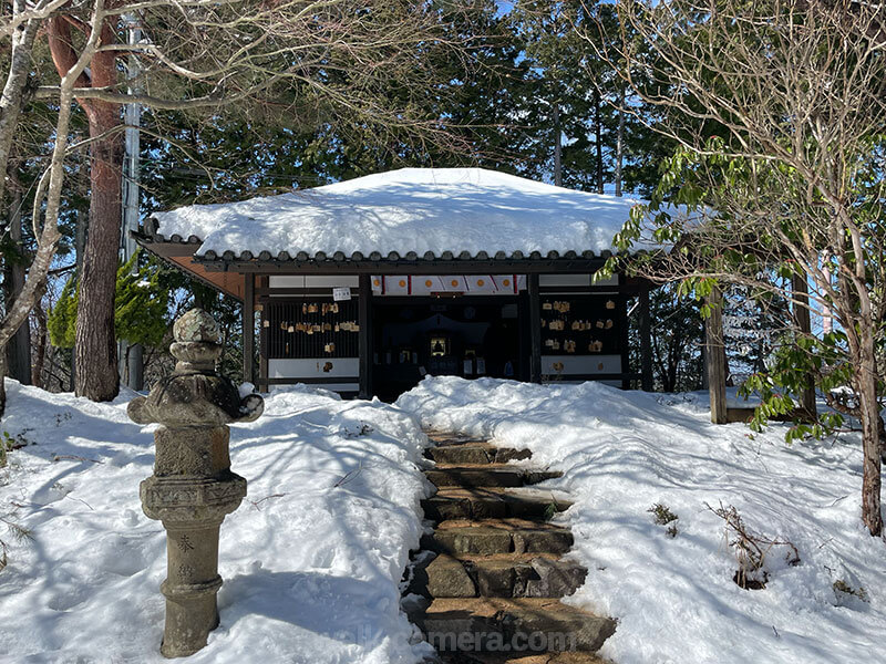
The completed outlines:
{"type": "Polygon", "coordinates": [[[166,529],[166,626],[161,653],[190,655],[218,626],[216,594],[218,531],[225,516],[246,496],[246,480],[231,473],[231,422],[257,419],[265,403],[240,398],[235,384],[215,371],[222,354],[218,324],[193,309],[173,328],[169,352],[177,363],[147,397],[128,406],[137,424],[159,423],[154,433],[154,475],[142,483],[142,508],[166,529]]]}

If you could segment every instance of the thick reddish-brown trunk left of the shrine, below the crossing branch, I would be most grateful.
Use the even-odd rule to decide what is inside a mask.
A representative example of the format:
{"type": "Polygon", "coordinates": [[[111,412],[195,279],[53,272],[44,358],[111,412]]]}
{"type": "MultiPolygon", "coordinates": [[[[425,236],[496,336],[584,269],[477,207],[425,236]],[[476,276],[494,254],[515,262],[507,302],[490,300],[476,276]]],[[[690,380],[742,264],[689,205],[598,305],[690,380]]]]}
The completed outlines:
{"type": "Polygon", "coordinates": [[[90,165],[90,234],[78,283],[74,355],[80,371],[74,387],[78,396],[111,401],[120,392],[114,335],[122,157],[121,135],[114,129],[121,125],[120,106],[92,102],[87,113],[94,143],[90,165]]]}

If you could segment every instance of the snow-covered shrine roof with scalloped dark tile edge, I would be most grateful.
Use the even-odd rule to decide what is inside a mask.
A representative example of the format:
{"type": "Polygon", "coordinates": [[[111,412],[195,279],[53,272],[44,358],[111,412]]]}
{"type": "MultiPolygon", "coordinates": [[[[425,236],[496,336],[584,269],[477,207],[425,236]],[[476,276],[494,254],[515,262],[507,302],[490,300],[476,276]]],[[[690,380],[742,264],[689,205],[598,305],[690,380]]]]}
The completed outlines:
{"type": "Polygon", "coordinates": [[[482,168],[403,168],[158,212],[154,237],[199,242],[206,259],[589,257],[612,250],[639,203],[482,168]]]}

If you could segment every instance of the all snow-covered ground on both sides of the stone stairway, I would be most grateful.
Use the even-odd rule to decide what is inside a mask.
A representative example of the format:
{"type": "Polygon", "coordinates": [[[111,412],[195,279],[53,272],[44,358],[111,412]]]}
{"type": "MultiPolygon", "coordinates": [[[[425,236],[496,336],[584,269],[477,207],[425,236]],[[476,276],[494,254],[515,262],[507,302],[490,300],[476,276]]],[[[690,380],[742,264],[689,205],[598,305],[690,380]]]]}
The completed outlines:
{"type": "MultiPolygon", "coordinates": [[[[165,536],[141,511],[152,427],[126,397],[93,404],[8,382],[0,433],[32,445],[0,469],[0,517],[33,533],[0,571],[0,661],[159,662],[165,536]]],[[[699,395],[601,384],[429,378],[396,407],[329,393],[275,393],[233,427],[249,496],[222,529],[222,625],[193,662],[414,663],[425,646],[400,611],[399,581],[421,530],[424,425],[534,450],[560,469],[546,486],[590,573],[567,601],[619,620],[604,654],[618,664],[883,661],[886,546],[859,519],[855,437],[783,443],[709,424],[699,395]],[[679,516],[677,536],[647,510],[679,516]],[[767,556],[764,590],[732,581],[724,525],[796,546],[767,556]],[[833,585],[864,588],[866,601],[833,585]]]]}

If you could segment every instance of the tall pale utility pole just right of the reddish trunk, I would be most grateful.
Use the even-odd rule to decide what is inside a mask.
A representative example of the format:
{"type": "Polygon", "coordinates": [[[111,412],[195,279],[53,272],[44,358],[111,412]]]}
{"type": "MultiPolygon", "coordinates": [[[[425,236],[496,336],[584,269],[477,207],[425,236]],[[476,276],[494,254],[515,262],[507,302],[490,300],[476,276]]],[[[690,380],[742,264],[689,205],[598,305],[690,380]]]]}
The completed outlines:
{"type": "MultiPolygon", "coordinates": [[[[127,42],[131,45],[142,41],[142,28],[136,14],[126,14],[127,42]]],[[[130,53],[126,63],[126,77],[130,80],[128,94],[137,94],[140,83],[138,58],[130,53]]],[[[141,151],[138,127],[142,124],[142,107],[138,104],[126,104],[124,114],[126,153],[123,159],[123,228],[121,234],[121,251],[123,261],[130,260],[137,250],[131,231],[138,230],[138,157],[141,151]]],[[[120,340],[120,372],[121,377],[126,377],[126,384],[132,390],[142,390],[144,386],[144,372],[142,363],[142,346],[133,344],[131,347],[125,340],[120,340]],[[127,353],[128,351],[128,353],[127,353]],[[128,362],[126,362],[128,357],[128,362]],[[128,364],[128,366],[126,366],[128,364]],[[128,371],[126,371],[128,369],[128,371]]]]}

